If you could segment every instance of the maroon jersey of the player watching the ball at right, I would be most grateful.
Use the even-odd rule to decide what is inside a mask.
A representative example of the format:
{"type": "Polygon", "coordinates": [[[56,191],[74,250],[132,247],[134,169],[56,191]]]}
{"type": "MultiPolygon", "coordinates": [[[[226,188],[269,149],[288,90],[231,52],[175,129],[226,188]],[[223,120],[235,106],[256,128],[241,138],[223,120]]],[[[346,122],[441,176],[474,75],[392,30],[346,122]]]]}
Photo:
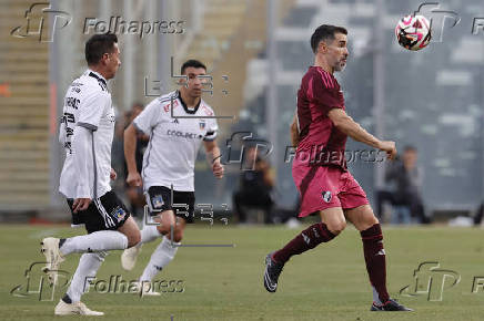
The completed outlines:
{"type": "Polygon", "coordinates": [[[346,135],[327,116],[332,108],[345,110],[336,79],[320,66],[310,66],[298,92],[300,143],[296,158],[307,165],[336,165],[346,169],[346,135]]]}

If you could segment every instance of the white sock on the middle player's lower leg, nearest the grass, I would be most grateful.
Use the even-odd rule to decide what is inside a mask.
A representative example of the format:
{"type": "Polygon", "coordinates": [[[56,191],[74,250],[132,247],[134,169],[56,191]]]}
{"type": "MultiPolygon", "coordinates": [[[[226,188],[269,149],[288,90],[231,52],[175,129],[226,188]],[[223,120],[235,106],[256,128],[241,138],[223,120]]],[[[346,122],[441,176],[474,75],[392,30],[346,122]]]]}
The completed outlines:
{"type": "Polygon", "coordinates": [[[163,240],[151,255],[150,262],[144,268],[140,281],[151,282],[151,280],[158,275],[158,272],[160,272],[161,269],[164,268],[174,258],[179,245],[180,242],[172,242],[167,237],[163,237],[163,240]]]}

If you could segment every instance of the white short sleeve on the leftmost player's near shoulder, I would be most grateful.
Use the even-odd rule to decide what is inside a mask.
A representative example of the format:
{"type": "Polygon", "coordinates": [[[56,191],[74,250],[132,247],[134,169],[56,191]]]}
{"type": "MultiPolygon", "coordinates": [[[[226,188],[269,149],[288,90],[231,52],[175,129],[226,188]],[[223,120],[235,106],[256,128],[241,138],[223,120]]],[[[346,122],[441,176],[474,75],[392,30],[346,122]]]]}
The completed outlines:
{"type": "Polygon", "coordinates": [[[103,92],[94,92],[81,101],[79,106],[78,126],[97,131],[99,122],[109,104],[109,96],[103,92]]]}

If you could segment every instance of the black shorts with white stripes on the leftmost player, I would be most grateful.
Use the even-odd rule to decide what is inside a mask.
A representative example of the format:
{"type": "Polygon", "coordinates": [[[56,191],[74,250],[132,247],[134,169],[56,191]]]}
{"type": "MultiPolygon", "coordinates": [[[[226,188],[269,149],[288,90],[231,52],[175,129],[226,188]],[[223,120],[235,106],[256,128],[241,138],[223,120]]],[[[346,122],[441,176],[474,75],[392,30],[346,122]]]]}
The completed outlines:
{"type": "Polygon", "coordinates": [[[72,211],[72,198],[67,199],[72,214],[72,226],[84,225],[88,234],[98,230],[117,230],[124,225],[131,214],[114,191],[110,190],[93,199],[88,209],[72,211]]]}

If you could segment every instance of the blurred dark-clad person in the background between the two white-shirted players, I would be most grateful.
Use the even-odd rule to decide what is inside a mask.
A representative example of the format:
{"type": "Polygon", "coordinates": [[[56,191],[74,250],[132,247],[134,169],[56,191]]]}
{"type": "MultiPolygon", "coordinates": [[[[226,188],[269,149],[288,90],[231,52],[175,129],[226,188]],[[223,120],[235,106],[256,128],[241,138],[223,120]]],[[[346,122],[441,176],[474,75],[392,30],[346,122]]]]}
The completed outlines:
{"type": "MultiPolygon", "coordinates": [[[[143,111],[144,106],[141,103],[134,103],[130,111],[125,113],[125,122],[122,127],[122,131],[124,132],[124,128],[128,127],[129,124],[132,123],[132,121],[143,111]]],[[[135,151],[135,159],[137,159],[137,168],[138,172],[141,173],[141,169],[143,167],[143,154],[144,149],[148,146],[148,142],[150,141],[150,137],[148,135],[144,135],[142,133],[138,133],[138,141],[137,141],[137,151],[135,151]]],[[[123,155],[124,159],[124,155],[123,155]]],[[[124,178],[128,175],[128,168],[125,161],[123,161],[123,174],[124,178]]],[[[140,216],[143,214],[143,207],[145,205],[145,199],[143,195],[143,187],[131,187],[127,183],[124,183],[125,187],[125,195],[128,197],[128,201],[130,203],[130,210],[133,216],[140,216]]]]}

